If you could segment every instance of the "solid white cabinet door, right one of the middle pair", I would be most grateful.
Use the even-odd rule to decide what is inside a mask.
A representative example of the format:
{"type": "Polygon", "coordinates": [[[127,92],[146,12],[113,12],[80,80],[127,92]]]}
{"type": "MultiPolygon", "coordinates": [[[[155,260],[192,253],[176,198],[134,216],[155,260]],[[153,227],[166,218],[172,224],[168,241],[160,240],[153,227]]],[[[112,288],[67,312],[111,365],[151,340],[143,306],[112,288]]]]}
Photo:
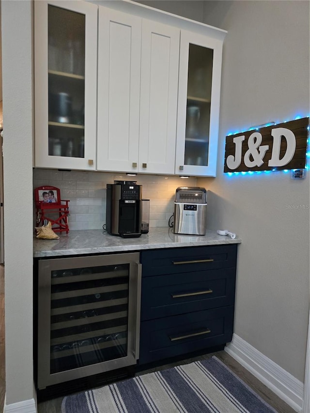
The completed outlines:
{"type": "Polygon", "coordinates": [[[180,30],[142,20],[139,171],[174,173],[180,30]]]}

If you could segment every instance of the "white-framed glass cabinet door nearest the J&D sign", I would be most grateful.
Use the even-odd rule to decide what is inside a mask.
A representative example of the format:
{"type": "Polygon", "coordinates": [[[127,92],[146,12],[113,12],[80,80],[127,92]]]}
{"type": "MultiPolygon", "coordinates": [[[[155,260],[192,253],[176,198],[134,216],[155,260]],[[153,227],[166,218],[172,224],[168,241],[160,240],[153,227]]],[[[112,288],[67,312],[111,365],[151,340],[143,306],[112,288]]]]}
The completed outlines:
{"type": "Polygon", "coordinates": [[[215,176],[222,40],[181,31],[178,175],[215,176]]]}

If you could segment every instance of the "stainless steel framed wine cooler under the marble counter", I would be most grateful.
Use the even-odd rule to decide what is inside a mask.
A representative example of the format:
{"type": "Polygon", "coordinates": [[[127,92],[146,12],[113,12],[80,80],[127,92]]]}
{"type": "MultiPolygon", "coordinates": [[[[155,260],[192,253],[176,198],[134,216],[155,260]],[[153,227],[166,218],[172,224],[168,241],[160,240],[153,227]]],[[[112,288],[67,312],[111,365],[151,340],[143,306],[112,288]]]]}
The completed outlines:
{"type": "Polygon", "coordinates": [[[139,257],[38,261],[38,389],[137,363],[139,257]]]}

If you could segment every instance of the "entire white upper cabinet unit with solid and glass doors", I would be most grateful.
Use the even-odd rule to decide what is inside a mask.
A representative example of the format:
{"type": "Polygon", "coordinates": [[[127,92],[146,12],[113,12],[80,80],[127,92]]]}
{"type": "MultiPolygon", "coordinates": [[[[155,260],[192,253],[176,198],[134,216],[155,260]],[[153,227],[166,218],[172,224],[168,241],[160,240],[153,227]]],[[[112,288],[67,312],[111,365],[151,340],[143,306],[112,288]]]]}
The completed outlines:
{"type": "Polygon", "coordinates": [[[215,176],[225,34],[132,1],[35,1],[35,167],[215,176]]]}

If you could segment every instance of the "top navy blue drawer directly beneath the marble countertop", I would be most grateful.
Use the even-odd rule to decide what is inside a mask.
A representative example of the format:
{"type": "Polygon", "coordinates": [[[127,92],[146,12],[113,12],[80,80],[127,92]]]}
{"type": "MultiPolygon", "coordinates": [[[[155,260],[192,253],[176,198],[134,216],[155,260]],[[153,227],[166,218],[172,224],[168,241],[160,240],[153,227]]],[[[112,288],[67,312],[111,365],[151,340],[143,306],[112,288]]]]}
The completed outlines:
{"type": "Polygon", "coordinates": [[[142,276],[180,274],[236,266],[237,244],[142,251],[142,276]]]}

